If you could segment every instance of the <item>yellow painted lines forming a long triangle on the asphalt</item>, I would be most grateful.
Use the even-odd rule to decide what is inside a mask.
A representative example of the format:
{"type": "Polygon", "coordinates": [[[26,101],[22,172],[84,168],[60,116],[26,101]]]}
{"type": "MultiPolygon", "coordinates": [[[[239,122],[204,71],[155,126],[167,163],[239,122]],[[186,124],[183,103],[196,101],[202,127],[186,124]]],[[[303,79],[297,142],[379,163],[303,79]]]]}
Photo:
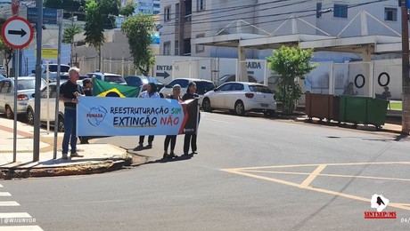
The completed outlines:
{"type": "MultiPolygon", "coordinates": [[[[343,178],[362,178],[362,179],[389,179],[389,180],[401,180],[401,181],[410,181],[410,179],[393,179],[393,178],[381,178],[381,177],[366,177],[366,176],[348,176],[348,175],[337,175],[337,174],[320,174],[326,166],[340,166],[340,165],[372,165],[372,164],[410,164],[410,162],[385,162],[385,163],[322,163],[322,164],[295,164],[295,165],[276,165],[276,166],[264,166],[264,167],[248,167],[248,168],[237,168],[237,169],[222,169],[221,171],[226,171],[234,174],[239,174],[242,176],[247,176],[255,179],[264,179],[271,182],[307,189],[310,191],[315,191],[319,193],[324,193],[328,195],[341,196],[348,199],[353,199],[357,201],[362,201],[365,203],[370,203],[369,198],[357,196],[357,195],[348,195],[341,192],[336,192],[324,188],[310,187],[308,186],[317,176],[325,177],[343,177],[343,178]],[[316,170],[311,173],[306,172],[287,172],[287,171],[258,171],[258,169],[275,169],[275,168],[291,168],[291,167],[307,167],[307,166],[317,166],[316,170]],[[252,171],[253,170],[253,171],[252,171]],[[301,184],[293,183],[283,179],[273,179],[264,176],[258,176],[251,174],[251,172],[262,172],[262,173],[279,173],[279,174],[294,174],[294,175],[309,175],[301,184]]],[[[410,211],[409,203],[389,203],[389,206],[410,211]]]]}

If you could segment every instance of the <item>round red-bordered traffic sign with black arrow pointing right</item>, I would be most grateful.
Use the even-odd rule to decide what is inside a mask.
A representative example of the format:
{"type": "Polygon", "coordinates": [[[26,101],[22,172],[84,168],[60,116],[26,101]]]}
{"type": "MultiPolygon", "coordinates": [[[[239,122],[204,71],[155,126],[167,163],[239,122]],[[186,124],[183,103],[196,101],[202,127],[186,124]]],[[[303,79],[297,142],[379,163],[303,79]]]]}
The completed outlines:
{"type": "Polygon", "coordinates": [[[2,37],[6,44],[15,49],[21,49],[33,40],[33,28],[28,20],[12,17],[6,20],[2,28],[2,37]]]}

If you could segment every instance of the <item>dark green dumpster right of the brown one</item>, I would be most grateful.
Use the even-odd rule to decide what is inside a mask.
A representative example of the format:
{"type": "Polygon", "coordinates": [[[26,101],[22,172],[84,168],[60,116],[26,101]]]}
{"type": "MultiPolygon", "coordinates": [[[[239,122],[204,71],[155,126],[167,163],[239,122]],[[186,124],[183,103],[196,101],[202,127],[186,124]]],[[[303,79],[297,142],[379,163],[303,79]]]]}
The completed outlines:
{"type": "Polygon", "coordinates": [[[373,124],[380,128],[386,120],[387,106],[387,100],[340,95],[339,121],[373,124]]]}

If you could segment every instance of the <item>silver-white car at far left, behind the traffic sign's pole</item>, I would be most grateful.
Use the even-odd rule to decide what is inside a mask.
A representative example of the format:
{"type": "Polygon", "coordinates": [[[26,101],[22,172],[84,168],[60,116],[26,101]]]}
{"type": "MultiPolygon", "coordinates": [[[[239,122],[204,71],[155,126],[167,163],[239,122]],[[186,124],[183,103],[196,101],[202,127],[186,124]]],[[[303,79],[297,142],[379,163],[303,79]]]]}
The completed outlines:
{"type": "MultiPolygon", "coordinates": [[[[36,77],[24,76],[17,78],[17,87],[14,78],[0,80],[0,113],[5,113],[9,119],[14,117],[14,91],[17,88],[17,115],[25,114],[27,103],[35,92],[36,77]]],[[[45,87],[45,80],[41,80],[41,88],[45,87]]]]}

